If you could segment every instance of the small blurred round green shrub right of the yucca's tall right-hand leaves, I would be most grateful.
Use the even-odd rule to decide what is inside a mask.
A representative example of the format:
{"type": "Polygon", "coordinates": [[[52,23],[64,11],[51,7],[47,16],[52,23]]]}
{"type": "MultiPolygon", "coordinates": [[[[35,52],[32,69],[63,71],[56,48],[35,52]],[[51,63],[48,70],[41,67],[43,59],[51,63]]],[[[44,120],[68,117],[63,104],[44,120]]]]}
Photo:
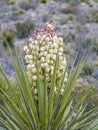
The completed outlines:
{"type": "Polygon", "coordinates": [[[82,69],[82,73],[84,75],[91,75],[93,70],[94,70],[94,67],[93,67],[92,63],[88,62],[88,63],[84,64],[83,69],[82,69]]]}

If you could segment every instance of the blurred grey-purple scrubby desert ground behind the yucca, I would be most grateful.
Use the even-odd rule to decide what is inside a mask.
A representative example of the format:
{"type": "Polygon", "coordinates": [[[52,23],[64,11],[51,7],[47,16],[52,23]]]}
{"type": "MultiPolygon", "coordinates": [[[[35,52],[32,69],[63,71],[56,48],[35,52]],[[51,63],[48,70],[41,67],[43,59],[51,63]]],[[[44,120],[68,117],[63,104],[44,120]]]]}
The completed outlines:
{"type": "MultiPolygon", "coordinates": [[[[92,71],[88,75],[84,69],[84,75],[87,76],[83,76],[78,81],[78,85],[88,85],[94,79],[98,79],[98,1],[91,0],[89,3],[73,1],[69,3],[66,0],[48,0],[47,3],[42,3],[39,0],[28,0],[28,2],[0,0],[0,31],[12,29],[16,32],[15,24],[24,21],[31,21],[35,28],[38,28],[48,19],[53,19],[57,34],[64,38],[69,64],[72,63],[77,52],[79,54],[76,64],[84,52],[88,53],[87,63],[92,71]]],[[[25,40],[25,37],[18,38],[15,34],[14,45],[22,50],[25,40]]],[[[9,76],[13,75],[10,56],[1,44],[0,66],[9,76]]],[[[98,87],[98,84],[96,83],[95,86],[98,87]]]]}

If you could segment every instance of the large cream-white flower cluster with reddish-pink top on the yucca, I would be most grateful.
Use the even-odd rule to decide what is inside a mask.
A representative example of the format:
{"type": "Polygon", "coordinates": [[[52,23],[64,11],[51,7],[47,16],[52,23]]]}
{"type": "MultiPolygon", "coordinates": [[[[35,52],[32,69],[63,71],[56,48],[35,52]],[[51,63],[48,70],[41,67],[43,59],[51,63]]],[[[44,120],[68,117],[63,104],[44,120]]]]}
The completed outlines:
{"type": "MultiPolygon", "coordinates": [[[[51,88],[51,76],[54,72],[54,64],[57,59],[57,70],[56,70],[56,86],[65,71],[66,59],[63,56],[63,39],[58,37],[54,32],[54,24],[50,20],[46,25],[38,30],[35,30],[32,38],[28,40],[28,43],[24,46],[25,60],[27,63],[27,74],[32,83],[32,89],[34,94],[37,94],[37,68],[36,58],[42,69],[42,75],[46,75],[48,91],[51,88]],[[58,53],[58,54],[57,54],[58,53]]],[[[67,81],[67,73],[65,76],[65,82],[67,81]]],[[[63,92],[63,88],[61,93],[63,92]]]]}

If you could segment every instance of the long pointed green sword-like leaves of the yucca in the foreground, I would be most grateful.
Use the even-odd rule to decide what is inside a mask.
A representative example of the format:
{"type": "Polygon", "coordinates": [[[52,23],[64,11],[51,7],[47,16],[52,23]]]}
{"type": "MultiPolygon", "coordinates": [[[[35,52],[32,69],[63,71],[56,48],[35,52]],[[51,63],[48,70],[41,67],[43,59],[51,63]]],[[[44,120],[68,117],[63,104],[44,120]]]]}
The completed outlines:
{"type": "MultiPolygon", "coordinates": [[[[16,56],[16,58],[17,62],[12,55],[17,77],[16,84],[20,92],[20,97],[16,94],[13,85],[10,84],[8,78],[2,72],[2,69],[0,69],[0,73],[4,75],[5,82],[7,81],[16,99],[15,102],[13,102],[13,99],[0,88],[0,93],[5,97],[5,106],[0,104],[0,126],[6,130],[92,130],[91,128],[94,127],[96,127],[96,130],[98,129],[98,118],[92,121],[90,120],[95,115],[97,116],[98,109],[94,108],[88,112],[84,112],[85,106],[83,102],[88,89],[83,92],[82,96],[79,96],[77,102],[71,107],[74,99],[72,91],[81,72],[83,59],[75,71],[73,71],[73,69],[71,70],[69,79],[65,84],[63,95],[60,95],[60,90],[64,82],[65,73],[58,84],[56,95],[54,92],[57,60],[54,64],[54,75],[51,77],[52,85],[50,93],[47,92],[45,76],[42,80],[40,65],[36,61],[38,79],[38,101],[36,101],[32,95],[31,85],[23,62],[19,59],[19,56],[16,56]],[[73,116],[74,112],[76,112],[75,116],[73,116]],[[93,125],[91,125],[91,122],[93,125]]],[[[66,69],[67,68],[65,68],[65,72],[66,69]]]]}

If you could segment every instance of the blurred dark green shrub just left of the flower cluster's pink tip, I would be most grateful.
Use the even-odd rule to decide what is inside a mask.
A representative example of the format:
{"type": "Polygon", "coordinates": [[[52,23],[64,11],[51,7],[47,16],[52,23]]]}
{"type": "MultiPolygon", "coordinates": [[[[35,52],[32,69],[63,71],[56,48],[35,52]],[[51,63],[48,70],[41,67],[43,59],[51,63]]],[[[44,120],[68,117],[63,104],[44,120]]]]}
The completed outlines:
{"type": "Polygon", "coordinates": [[[16,26],[18,38],[28,37],[31,33],[31,30],[34,29],[34,24],[30,21],[17,22],[15,26],[16,26]]]}

